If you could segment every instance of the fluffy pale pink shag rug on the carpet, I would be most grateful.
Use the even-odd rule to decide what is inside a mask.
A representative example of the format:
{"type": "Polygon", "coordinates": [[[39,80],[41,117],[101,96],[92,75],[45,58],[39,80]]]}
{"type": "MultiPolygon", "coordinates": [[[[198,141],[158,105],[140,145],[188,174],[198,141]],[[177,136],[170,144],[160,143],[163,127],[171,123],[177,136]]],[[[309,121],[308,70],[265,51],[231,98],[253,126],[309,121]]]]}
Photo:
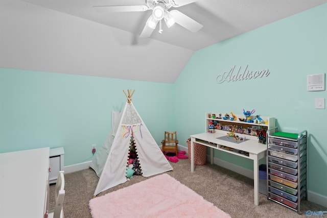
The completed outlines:
{"type": "Polygon", "coordinates": [[[89,201],[93,218],[229,217],[168,174],[152,177],[89,201]]]}

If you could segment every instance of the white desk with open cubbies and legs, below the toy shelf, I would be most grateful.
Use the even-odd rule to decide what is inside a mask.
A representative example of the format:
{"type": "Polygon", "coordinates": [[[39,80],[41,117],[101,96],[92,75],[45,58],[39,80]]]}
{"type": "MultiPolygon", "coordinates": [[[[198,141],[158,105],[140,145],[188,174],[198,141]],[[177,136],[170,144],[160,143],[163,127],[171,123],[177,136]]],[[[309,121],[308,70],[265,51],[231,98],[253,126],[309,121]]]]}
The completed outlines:
{"type": "Polygon", "coordinates": [[[259,205],[259,160],[266,157],[267,146],[259,143],[258,140],[250,139],[241,143],[234,143],[232,140],[225,141],[219,139],[218,137],[221,136],[227,137],[226,134],[220,133],[200,133],[191,135],[191,172],[194,172],[194,142],[203,144],[204,146],[210,148],[211,164],[214,163],[214,149],[251,159],[253,160],[254,204],[259,205]],[[248,152],[249,156],[222,149],[222,146],[248,152]]]}

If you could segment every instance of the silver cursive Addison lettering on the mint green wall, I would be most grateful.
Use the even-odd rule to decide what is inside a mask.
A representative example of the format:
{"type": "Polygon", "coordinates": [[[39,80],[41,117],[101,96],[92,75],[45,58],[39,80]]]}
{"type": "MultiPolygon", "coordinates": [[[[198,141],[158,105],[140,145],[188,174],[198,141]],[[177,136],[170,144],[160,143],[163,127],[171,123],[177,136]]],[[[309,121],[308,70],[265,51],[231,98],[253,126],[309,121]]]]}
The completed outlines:
{"type": "Polygon", "coordinates": [[[236,66],[233,66],[229,72],[224,72],[222,75],[217,76],[217,83],[223,83],[223,82],[235,82],[235,81],[240,81],[240,80],[250,80],[250,79],[255,79],[258,77],[268,77],[270,74],[268,69],[263,69],[261,71],[250,71],[248,70],[248,65],[246,65],[245,69],[241,71],[241,68],[237,71],[237,74],[234,73],[234,69],[236,66]]]}

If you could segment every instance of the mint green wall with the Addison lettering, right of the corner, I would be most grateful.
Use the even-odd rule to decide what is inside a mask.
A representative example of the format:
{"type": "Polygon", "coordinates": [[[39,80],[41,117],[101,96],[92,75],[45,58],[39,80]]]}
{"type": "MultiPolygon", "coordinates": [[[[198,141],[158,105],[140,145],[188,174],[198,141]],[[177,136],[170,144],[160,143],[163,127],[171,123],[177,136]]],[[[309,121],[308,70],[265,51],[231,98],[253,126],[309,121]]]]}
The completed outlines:
{"type": "MultiPolygon", "coordinates": [[[[327,73],[326,27],[324,4],[197,51],[174,84],[179,141],[204,132],[206,112],[255,109],[255,115],[275,117],[279,130],[308,130],[309,189],[327,197],[327,112],[314,107],[315,98],[327,100],[327,91],[306,90],[307,75],[327,73]],[[216,83],[216,77],[234,65],[269,69],[270,75],[216,83]]],[[[219,155],[253,169],[250,160],[231,156],[219,155]]]]}

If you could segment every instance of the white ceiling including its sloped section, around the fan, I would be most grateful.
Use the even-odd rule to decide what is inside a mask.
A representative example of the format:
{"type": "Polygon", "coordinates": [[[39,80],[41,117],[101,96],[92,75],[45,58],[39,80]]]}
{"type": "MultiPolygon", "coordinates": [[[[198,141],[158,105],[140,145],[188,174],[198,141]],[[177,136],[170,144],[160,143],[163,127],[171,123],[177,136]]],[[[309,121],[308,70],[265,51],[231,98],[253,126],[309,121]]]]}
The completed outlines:
{"type": "Polygon", "coordinates": [[[324,3],[198,0],[174,8],[203,25],[197,33],[162,23],[162,34],[157,27],[151,37],[139,38],[150,10],[98,13],[92,6],[144,5],[145,0],[0,0],[0,64],[171,83],[194,51],[324,3]]]}

